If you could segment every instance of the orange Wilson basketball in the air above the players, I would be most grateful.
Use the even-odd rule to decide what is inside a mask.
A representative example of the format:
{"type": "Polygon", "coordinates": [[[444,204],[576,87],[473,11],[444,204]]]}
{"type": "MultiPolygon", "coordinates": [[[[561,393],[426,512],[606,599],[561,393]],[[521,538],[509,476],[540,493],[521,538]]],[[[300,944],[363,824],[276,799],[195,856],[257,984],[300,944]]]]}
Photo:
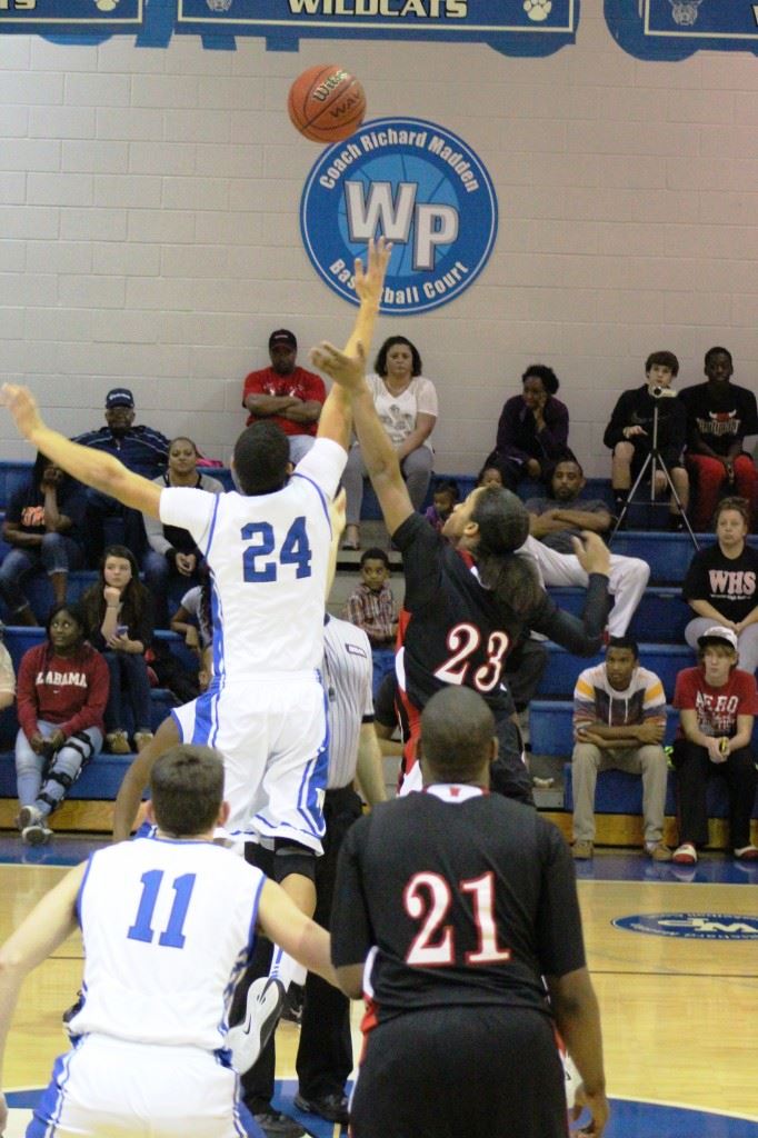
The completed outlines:
{"type": "Polygon", "coordinates": [[[295,80],[287,110],[313,142],[340,142],[363,122],[365,94],[359,80],[336,64],[316,64],[295,80]]]}

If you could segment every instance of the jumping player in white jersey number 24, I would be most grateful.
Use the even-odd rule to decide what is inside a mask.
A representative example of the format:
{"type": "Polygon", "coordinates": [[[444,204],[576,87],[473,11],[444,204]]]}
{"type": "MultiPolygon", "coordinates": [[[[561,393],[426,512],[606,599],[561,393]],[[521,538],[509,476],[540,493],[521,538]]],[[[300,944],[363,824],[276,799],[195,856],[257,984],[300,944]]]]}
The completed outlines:
{"type": "MultiPolygon", "coordinates": [[[[369,242],[355,264],[360,307],[346,353],[368,347],[390,247],[369,242]]],[[[347,457],[349,401],[335,387],[315,445],[289,477],[286,436],[259,422],[237,440],[239,490],[213,495],[159,487],[112,455],[48,428],[32,395],[6,385],[16,424],[39,451],[80,481],[166,525],[188,529],[213,572],[214,679],[178,709],[183,742],[224,757],[230,830],[274,848],[277,880],[313,913],[313,859],[321,852],[326,787],[326,701],[319,668],[330,525],[327,500],[347,457]]]]}

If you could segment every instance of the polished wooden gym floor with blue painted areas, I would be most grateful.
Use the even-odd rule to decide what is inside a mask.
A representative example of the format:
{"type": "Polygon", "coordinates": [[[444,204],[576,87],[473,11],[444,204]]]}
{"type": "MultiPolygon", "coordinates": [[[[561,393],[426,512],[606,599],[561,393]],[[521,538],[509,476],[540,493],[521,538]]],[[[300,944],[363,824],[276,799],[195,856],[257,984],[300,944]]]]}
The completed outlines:
{"type": "MultiPolygon", "coordinates": [[[[28,851],[0,835],[0,938],[90,848],[60,838],[28,851]]],[[[758,1138],[758,867],[715,855],[689,869],[600,851],[577,875],[615,1100],[607,1138],[758,1138]],[[613,923],[635,916],[664,934],[613,923]]],[[[44,1087],[65,1050],[60,1014],[80,978],[72,938],[26,981],[6,1055],[5,1089],[22,1092],[10,1095],[7,1138],[24,1133],[33,1096],[23,1092],[44,1087]]],[[[277,1044],[288,1106],[297,1028],[282,1023],[277,1044]]],[[[338,1133],[304,1121],[319,1138],[338,1133]]]]}

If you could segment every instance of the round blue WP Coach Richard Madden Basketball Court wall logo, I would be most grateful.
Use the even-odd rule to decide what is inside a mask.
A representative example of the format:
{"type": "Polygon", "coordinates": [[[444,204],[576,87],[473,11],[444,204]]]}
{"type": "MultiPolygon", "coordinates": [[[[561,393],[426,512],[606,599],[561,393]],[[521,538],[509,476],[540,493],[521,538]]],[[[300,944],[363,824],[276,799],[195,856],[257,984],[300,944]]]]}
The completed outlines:
{"type": "Polygon", "coordinates": [[[329,147],[300,201],[303,242],[327,284],[357,303],[353,263],[371,237],[393,241],[381,312],[428,312],[460,296],[497,233],[489,174],[452,131],[377,118],[329,147]]]}

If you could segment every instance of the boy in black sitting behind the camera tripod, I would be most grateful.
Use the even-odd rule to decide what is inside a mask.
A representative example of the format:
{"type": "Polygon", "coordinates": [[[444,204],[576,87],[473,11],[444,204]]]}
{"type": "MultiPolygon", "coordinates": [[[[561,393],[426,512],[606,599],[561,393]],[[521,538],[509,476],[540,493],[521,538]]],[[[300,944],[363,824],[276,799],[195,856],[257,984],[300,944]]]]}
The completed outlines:
{"type": "MultiPolygon", "coordinates": [[[[690,478],[682,461],[686,442],[687,413],[676,397],[661,397],[669,390],[672,380],[679,373],[679,361],[673,352],[653,352],[645,361],[645,382],[642,387],[624,391],[613,407],[610,422],[603,435],[604,445],[613,452],[611,480],[616,498],[616,512],[626,505],[633,480],[640,475],[652,448],[653,414],[658,409],[658,451],[686,511],[690,501],[690,478]]],[[[662,494],[668,486],[666,475],[656,470],[656,494],[662,494]]],[[[684,521],[676,500],[669,501],[668,528],[684,529],[684,521]]]]}

